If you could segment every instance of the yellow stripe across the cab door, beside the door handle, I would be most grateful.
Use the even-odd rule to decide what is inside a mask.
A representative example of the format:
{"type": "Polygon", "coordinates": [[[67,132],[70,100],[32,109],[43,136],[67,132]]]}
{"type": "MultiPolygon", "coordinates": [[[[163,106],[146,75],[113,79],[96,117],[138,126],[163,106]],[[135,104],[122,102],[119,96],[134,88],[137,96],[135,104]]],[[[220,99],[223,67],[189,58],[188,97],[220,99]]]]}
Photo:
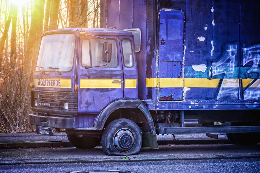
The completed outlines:
{"type": "Polygon", "coordinates": [[[121,88],[121,79],[80,79],[80,88],[121,88]]]}

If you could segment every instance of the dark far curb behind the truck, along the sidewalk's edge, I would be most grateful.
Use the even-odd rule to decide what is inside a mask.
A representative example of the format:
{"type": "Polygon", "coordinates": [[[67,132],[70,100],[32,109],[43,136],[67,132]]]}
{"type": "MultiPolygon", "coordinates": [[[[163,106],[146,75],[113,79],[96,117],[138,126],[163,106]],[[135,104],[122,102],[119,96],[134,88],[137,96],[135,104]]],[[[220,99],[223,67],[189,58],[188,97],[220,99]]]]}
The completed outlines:
{"type": "MultiPolygon", "coordinates": [[[[190,145],[190,144],[231,144],[228,139],[182,139],[182,140],[158,140],[158,145],[190,145]]],[[[40,148],[40,147],[72,147],[70,142],[17,142],[0,143],[0,149],[11,148],[40,148]]]]}

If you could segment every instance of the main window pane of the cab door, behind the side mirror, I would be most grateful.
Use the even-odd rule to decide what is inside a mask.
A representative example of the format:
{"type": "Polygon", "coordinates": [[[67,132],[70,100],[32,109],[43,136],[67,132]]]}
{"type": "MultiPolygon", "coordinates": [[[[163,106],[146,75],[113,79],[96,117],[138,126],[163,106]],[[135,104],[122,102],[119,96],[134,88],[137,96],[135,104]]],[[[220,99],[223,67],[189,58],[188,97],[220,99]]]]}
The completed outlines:
{"type": "MultiPolygon", "coordinates": [[[[90,50],[91,50],[91,60],[92,66],[103,66],[104,67],[117,67],[118,65],[118,58],[117,58],[117,48],[116,48],[116,41],[115,40],[108,40],[109,47],[111,46],[111,60],[107,63],[103,61],[104,55],[104,43],[106,44],[107,41],[104,39],[91,39],[90,40],[90,50]]],[[[107,44],[106,44],[107,45],[107,44]]]]}

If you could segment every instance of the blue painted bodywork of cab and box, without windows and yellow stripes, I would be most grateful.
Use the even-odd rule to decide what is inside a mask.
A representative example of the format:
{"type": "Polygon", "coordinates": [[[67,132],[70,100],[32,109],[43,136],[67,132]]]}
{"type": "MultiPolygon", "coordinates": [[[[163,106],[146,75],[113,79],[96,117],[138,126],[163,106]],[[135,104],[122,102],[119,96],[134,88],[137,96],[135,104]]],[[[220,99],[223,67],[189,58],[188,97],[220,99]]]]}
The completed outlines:
{"type": "MultiPolygon", "coordinates": [[[[123,65],[121,52],[122,39],[133,40],[129,32],[68,28],[43,34],[76,35],[73,68],[61,75],[55,72],[43,75],[37,71],[34,77],[71,79],[72,87],[46,87],[54,85],[48,80],[49,84],[40,81],[44,87],[35,87],[36,90],[76,92],[73,86],[79,85],[80,79],[138,79],[136,88],[124,88],[124,85],[121,88],[79,88],[76,127],[92,127],[96,115],[118,99],[139,98],[149,110],[260,109],[257,81],[252,82],[255,86],[249,84],[243,88],[241,80],[260,79],[260,32],[259,22],[256,22],[259,2],[114,0],[107,2],[106,8],[107,27],[141,29],[141,49],[133,54],[133,67],[123,65]],[[91,36],[86,38],[80,31],[116,40],[118,66],[83,67],[80,45],[83,39],[91,36]],[[198,37],[205,40],[200,41],[198,37]],[[206,66],[205,72],[192,68],[192,65],[202,64],[206,66]],[[216,88],[156,88],[146,87],[146,78],[212,78],[220,82],[216,88]],[[237,87],[223,87],[226,79],[239,79],[239,83],[237,87]]],[[[134,50],[134,44],[131,46],[134,50]]],[[[56,81],[55,86],[59,86],[56,81]]]]}

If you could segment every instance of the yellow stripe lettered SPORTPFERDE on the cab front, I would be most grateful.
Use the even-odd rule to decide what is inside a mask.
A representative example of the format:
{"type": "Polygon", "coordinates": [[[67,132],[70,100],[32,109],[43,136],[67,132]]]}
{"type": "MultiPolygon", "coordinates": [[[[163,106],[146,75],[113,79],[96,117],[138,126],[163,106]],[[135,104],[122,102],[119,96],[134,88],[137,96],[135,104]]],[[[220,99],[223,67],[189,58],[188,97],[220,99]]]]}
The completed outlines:
{"type": "Polygon", "coordinates": [[[34,85],[36,87],[71,88],[71,79],[35,78],[34,85]]]}

